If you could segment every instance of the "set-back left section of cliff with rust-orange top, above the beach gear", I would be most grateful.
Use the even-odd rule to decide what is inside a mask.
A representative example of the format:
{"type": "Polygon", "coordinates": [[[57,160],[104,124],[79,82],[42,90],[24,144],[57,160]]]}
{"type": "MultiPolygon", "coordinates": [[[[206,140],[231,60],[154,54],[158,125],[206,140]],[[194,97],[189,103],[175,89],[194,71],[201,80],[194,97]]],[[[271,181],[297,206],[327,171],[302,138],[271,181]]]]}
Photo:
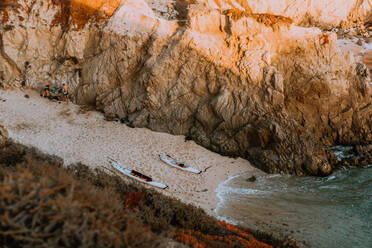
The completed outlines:
{"type": "Polygon", "coordinates": [[[102,25],[121,4],[119,0],[8,1],[12,5],[1,12],[0,80],[35,88],[46,81],[63,81],[72,89],[79,84],[79,64],[90,56],[102,25]]]}

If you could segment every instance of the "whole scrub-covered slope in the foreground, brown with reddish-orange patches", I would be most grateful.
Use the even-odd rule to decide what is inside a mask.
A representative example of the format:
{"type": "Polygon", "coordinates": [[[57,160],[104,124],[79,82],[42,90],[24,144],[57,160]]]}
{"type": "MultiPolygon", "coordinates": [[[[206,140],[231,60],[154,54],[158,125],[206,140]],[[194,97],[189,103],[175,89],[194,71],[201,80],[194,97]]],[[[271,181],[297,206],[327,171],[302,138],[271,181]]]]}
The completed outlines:
{"type": "Polygon", "coordinates": [[[170,239],[191,247],[296,247],[101,170],[65,168],[9,140],[0,147],[5,247],[158,247],[170,239]]]}

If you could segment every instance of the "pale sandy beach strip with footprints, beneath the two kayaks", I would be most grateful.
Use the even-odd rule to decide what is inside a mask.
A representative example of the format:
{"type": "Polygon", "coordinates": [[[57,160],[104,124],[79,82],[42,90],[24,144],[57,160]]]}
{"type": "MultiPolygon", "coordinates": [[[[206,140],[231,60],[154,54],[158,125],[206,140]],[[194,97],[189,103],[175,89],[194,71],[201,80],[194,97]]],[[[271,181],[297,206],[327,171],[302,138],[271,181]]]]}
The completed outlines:
{"type": "Polygon", "coordinates": [[[215,189],[219,183],[237,173],[262,173],[246,160],[223,157],[193,141],[185,142],[184,136],[105,121],[99,112],[84,113],[77,105],[52,102],[31,90],[0,90],[0,123],[15,141],[59,156],[65,165],[107,166],[104,155],[110,155],[127,168],[166,183],[168,189],[159,189],[164,194],[209,214],[214,214],[218,203],[215,189]],[[161,162],[158,154],[169,154],[202,171],[211,168],[200,175],[183,172],[161,162]]]}

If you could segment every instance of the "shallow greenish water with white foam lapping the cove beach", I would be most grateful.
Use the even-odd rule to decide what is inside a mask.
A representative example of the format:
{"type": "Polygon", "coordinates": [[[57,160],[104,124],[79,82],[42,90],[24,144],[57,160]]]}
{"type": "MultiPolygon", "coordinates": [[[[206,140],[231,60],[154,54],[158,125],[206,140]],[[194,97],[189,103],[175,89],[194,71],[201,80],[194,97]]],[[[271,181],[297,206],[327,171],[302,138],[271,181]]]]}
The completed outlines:
{"type": "Polygon", "coordinates": [[[237,175],[219,185],[216,213],[304,247],[372,248],[372,166],[324,178],[237,175]]]}

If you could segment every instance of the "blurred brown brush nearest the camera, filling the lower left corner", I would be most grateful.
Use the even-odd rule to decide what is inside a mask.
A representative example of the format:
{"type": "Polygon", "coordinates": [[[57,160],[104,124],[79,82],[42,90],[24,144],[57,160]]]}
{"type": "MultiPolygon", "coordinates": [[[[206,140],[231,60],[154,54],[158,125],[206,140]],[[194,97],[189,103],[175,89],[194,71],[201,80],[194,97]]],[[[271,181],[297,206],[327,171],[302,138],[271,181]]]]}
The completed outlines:
{"type": "Polygon", "coordinates": [[[2,245],[154,247],[162,238],[119,195],[74,177],[58,158],[8,142],[0,165],[2,245]]]}

